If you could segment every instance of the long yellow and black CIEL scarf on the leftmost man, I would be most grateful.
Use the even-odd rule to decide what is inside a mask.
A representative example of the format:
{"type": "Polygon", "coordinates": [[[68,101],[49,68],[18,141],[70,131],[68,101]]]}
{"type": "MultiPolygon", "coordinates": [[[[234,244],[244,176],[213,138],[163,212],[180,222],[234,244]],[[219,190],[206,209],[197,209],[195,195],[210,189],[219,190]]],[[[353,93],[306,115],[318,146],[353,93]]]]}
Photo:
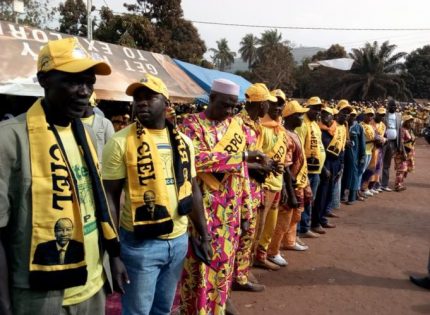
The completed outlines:
{"type": "MultiPolygon", "coordinates": [[[[87,269],[76,180],[58,132],[46,121],[40,99],[28,110],[27,128],[32,180],[30,287],[59,290],[83,285],[87,269]],[[68,227],[62,232],[70,234],[71,239],[62,247],[53,239],[52,231],[56,232],[64,222],[68,227]],[[66,254],[71,263],[64,263],[66,254]]],[[[119,242],[95,164],[95,149],[79,119],[72,122],[72,130],[90,173],[103,244],[109,254],[118,256],[119,242]]]]}

